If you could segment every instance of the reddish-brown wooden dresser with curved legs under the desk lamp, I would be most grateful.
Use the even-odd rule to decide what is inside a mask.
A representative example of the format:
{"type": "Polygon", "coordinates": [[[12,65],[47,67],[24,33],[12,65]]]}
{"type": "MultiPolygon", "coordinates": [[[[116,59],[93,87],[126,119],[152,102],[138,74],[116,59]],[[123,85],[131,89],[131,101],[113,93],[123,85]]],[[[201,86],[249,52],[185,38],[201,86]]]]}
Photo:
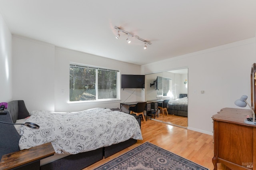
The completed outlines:
{"type": "Polygon", "coordinates": [[[251,116],[252,111],[224,108],[212,116],[214,170],[217,170],[217,163],[232,170],[256,170],[256,125],[244,123],[246,115],[251,116]]]}

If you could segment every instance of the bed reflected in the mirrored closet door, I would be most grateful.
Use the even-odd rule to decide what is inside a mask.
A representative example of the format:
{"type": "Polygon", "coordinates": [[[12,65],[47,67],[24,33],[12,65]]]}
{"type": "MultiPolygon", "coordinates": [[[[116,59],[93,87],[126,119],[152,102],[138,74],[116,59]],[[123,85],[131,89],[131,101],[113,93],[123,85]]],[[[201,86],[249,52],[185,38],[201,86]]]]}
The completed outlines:
{"type": "Polygon", "coordinates": [[[178,99],[169,100],[168,114],[188,117],[188,95],[180,94],[178,99]]]}

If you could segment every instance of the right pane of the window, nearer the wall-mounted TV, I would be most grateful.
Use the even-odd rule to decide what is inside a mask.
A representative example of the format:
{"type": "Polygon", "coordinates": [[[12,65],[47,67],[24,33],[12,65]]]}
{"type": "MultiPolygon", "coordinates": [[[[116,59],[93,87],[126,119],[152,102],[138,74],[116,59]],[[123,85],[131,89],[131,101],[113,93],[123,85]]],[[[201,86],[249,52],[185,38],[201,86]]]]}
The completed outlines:
{"type": "Polygon", "coordinates": [[[98,99],[115,99],[116,71],[98,70],[98,99]]]}

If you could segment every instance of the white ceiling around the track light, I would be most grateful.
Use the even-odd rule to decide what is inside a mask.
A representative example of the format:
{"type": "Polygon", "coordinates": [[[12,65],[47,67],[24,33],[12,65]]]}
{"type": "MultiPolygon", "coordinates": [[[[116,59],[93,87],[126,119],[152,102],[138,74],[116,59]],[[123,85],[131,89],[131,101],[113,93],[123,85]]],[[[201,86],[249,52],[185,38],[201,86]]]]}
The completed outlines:
{"type": "Polygon", "coordinates": [[[12,34],[138,65],[256,33],[256,0],[0,0],[0,13],[12,34]]]}

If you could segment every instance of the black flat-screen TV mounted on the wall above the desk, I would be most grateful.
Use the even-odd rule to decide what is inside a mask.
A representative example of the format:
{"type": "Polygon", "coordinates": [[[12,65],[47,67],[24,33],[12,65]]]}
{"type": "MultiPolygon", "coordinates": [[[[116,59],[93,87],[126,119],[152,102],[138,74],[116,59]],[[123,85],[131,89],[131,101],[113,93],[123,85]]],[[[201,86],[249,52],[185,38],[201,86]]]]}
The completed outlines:
{"type": "Polygon", "coordinates": [[[145,88],[145,75],[128,75],[122,74],[122,89],[142,89],[145,88]]]}

